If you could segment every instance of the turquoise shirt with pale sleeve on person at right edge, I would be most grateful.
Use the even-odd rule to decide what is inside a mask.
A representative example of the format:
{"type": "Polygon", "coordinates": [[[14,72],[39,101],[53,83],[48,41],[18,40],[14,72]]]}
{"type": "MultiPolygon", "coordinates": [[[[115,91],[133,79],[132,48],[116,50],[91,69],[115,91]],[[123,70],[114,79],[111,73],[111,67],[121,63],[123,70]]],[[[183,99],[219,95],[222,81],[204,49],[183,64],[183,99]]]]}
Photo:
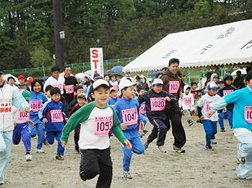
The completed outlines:
{"type": "Polygon", "coordinates": [[[252,131],[252,89],[247,86],[225,95],[210,104],[210,109],[220,110],[230,103],[234,103],[233,128],[235,135],[244,131],[252,131]]]}

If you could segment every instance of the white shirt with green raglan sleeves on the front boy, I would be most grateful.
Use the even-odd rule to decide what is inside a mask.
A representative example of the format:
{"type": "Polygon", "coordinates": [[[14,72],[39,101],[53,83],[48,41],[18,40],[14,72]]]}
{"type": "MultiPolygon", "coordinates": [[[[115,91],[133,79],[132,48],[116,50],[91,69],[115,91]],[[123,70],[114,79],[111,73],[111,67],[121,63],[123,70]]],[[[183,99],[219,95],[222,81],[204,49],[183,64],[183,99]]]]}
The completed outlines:
{"type": "Polygon", "coordinates": [[[81,124],[78,142],[80,149],[107,149],[110,146],[110,130],[121,143],[126,140],[118,117],[109,105],[100,108],[91,102],[81,107],[65,125],[61,140],[67,142],[70,132],[79,124],[81,124]]]}

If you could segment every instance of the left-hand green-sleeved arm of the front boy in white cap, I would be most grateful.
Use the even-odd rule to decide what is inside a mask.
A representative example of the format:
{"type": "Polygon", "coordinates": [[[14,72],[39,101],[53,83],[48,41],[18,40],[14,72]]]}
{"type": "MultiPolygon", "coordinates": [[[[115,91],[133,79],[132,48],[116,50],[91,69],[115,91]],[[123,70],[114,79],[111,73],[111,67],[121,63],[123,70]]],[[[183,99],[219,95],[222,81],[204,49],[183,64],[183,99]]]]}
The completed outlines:
{"type": "MultiPolygon", "coordinates": [[[[63,130],[62,130],[62,136],[61,136],[61,141],[64,142],[65,144],[68,142],[68,137],[69,134],[72,130],[74,130],[74,128],[79,125],[80,123],[86,121],[92,110],[94,105],[92,105],[91,103],[89,105],[84,106],[83,108],[80,108],[79,110],[77,110],[68,120],[68,122],[66,123],[66,125],[64,126],[63,130]]],[[[65,145],[64,144],[64,145],[65,145]]]]}

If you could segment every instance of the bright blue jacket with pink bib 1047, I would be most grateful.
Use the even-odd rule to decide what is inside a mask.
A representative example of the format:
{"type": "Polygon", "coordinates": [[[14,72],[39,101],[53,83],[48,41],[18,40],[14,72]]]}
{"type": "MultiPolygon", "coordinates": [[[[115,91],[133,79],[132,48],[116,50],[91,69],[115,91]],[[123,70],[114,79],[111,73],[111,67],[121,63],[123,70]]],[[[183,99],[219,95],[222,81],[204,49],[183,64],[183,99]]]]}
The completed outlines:
{"type": "Polygon", "coordinates": [[[115,105],[114,109],[119,117],[120,124],[128,123],[128,127],[124,131],[136,130],[139,122],[146,123],[144,116],[139,115],[139,102],[136,99],[119,99],[115,105]],[[131,110],[131,113],[126,112],[131,110]]]}

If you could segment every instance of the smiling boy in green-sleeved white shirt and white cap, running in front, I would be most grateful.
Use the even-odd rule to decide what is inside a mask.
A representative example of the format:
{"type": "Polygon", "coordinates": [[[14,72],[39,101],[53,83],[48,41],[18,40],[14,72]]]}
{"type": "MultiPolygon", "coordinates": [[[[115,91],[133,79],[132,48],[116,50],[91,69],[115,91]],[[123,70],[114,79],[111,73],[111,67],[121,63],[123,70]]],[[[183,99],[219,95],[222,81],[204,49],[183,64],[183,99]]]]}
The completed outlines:
{"type": "Polygon", "coordinates": [[[125,138],[120,128],[118,117],[108,103],[109,84],[103,79],[93,83],[93,102],[76,111],[63,129],[61,137],[65,146],[70,132],[81,124],[80,129],[80,177],[83,181],[93,179],[99,174],[97,188],[110,187],[112,181],[112,161],[110,157],[109,132],[127,148],[131,143],[125,138]]]}

